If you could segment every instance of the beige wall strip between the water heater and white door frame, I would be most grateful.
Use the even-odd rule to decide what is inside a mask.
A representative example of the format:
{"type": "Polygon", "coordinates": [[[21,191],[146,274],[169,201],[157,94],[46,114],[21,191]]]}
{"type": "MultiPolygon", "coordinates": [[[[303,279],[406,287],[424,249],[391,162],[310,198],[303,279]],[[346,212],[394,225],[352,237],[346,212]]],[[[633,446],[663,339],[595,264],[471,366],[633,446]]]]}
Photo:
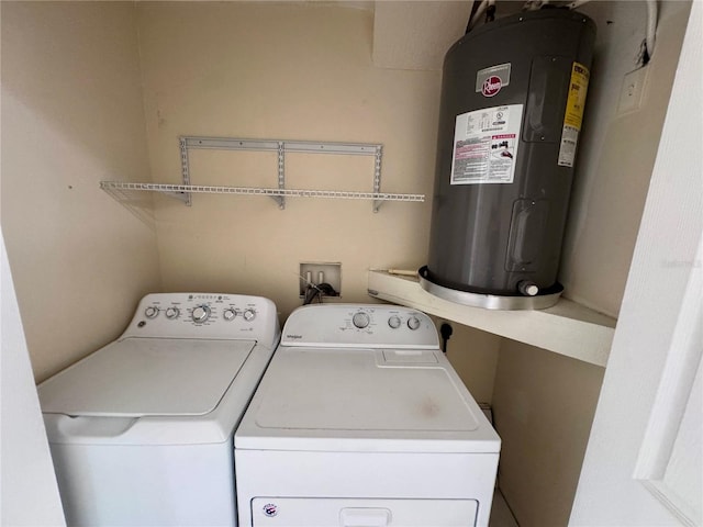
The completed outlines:
{"type": "Polygon", "coordinates": [[[645,35],[645,2],[592,2],[595,57],[577,159],[560,280],[565,295],[617,317],[629,272],[690,2],[659,4],[640,111],[618,114],[626,72],[645,35]],[[610,23],[607,23],[610,21],[610,23]]]}

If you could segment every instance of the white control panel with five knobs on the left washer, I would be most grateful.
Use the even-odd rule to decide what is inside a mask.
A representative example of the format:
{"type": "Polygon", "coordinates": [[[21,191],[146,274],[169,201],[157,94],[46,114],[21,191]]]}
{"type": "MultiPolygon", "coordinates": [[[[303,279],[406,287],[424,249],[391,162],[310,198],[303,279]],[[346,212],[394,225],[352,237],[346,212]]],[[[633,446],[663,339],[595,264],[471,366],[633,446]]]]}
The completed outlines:
{"type": "Polygon", "coordinates": [[[142,299],[122,337],[257,338],[274,327],[278,334],[276,306],[261,296],[155,293],[142,299]]]}

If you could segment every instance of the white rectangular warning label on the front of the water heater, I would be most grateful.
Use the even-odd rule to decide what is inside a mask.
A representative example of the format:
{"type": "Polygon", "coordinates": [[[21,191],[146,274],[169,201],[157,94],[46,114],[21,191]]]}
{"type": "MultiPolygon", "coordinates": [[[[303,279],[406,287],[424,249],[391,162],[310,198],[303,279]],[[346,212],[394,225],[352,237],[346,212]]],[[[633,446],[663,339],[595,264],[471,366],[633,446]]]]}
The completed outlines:
{"type": "Polygon", "coordinates": [[[523,104],[457,115],[450,183],[512,183],[522,124],[523,104]]]}

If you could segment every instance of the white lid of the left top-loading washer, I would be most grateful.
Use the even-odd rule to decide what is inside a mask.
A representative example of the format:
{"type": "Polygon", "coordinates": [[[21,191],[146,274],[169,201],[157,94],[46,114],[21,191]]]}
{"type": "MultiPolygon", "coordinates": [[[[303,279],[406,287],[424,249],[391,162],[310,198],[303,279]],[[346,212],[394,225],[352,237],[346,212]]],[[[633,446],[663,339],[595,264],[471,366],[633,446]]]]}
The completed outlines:
{"type": "Polygon", "coordinates": [[[250,340],[126,338],[38,386],[44,413],[143,417],[205,415],[232,384],[250,340]]]}

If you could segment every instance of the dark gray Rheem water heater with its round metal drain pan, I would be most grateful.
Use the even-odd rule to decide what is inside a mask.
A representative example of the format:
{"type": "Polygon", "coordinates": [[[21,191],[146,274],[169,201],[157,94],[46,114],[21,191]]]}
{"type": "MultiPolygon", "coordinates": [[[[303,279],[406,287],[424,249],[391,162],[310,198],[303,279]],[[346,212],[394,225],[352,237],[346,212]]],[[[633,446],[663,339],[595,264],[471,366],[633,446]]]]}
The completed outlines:
{"type": "Polygon", "coordinates": [[[484,307],[556,302],[594,40],[588,16],[543,9],[447,52],[423,288],[484,307]]]}

